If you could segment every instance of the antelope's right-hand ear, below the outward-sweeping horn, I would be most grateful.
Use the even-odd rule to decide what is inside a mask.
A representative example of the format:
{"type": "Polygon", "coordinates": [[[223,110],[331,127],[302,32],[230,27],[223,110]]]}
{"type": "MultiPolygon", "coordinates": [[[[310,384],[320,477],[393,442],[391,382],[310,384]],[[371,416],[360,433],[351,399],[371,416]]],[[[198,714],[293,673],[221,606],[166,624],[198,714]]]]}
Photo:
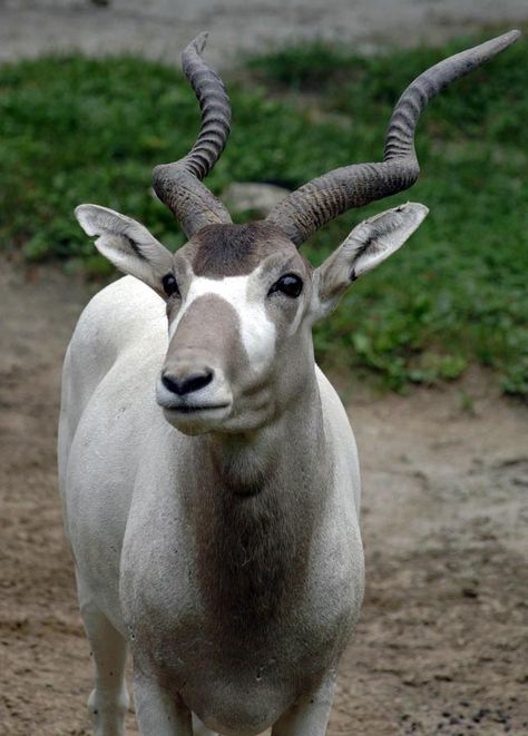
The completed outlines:
{"type": "Polygon", "coordinates": [[[429,209],[409,202],[354,227],[314,274],[314,318],[330,314],[356,278],[395,253],[414,233],[429,209]]]}

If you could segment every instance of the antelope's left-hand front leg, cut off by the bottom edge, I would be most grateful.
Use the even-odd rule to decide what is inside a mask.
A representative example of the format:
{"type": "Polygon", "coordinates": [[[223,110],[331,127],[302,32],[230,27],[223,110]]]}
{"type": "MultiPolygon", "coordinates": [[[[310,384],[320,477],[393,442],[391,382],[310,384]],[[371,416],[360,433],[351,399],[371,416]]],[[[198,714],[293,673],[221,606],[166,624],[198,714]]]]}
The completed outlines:
{"type": "Polygon", "coordinates": [[[134,700],[141,736],[193,736],[190,710],[155,677],[134,674],[134,700]]]}

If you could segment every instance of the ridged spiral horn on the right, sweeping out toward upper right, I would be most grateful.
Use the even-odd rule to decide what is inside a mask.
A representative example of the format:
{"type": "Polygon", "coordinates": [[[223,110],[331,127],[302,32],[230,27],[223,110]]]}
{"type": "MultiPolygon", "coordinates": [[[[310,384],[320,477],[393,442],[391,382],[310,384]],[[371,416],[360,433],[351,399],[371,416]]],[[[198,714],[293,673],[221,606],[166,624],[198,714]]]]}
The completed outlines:
{"type": "Polygon", "coordinates": [[[312,179],[276,205],[266,219],[300,246],[325,223],[348,209],[408,189],[420,173],[414,129],[429,100],[451,81],[514,43],[519,36],[519,31],[509,31],[424,71],[409,85],[394,107],[385,134],[383,161],[343,166],[312,179]]]}

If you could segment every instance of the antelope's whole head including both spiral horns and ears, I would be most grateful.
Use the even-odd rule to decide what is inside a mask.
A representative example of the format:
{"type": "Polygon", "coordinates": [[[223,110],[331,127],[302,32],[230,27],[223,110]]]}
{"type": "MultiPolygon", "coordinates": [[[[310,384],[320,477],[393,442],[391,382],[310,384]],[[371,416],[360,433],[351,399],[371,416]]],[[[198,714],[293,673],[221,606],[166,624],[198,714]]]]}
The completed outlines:
{"type": "Polygon", "coordinates": [[[312,325],[398,251],[428,209],[407,204],[364,220],[315,269],[299,247],[345,210],[414,184],[414,128],[427,102],[518,36],[510,31],[420,75],[394,107],[383,161],[330,171],[289,195],[266,219],[246,225],[233,225],[202,183],[225,147],[231,106],[202,58],[206,35],[185,49],[202,128],[185,158],[155,168],[154,189],[179,220],[186,245],[173,254],[129,217],[97,205],[76,209],[85,232],[98,236],[98,249],[166,302],[168,350],[156,398],[172,424],[187,433],[255,430],[313,386],[312,325]]]}

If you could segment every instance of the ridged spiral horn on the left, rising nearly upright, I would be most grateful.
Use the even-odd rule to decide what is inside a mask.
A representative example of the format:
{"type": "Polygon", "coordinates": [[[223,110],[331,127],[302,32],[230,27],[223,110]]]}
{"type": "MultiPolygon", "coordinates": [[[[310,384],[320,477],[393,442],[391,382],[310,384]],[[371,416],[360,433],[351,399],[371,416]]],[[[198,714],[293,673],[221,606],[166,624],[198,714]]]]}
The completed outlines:
{"type": "Polygon", "coordinates": [[[174,213],[187,237],[206,225],[231,223],[231,216],[202,179],[221,157],[231,131],[231,102],[218,75],[202,58],[207,33],[199,33],[182,53],[182,68],[202,112],[198,138],[185,158],[156,166],[153,186],[174,213]]]}

